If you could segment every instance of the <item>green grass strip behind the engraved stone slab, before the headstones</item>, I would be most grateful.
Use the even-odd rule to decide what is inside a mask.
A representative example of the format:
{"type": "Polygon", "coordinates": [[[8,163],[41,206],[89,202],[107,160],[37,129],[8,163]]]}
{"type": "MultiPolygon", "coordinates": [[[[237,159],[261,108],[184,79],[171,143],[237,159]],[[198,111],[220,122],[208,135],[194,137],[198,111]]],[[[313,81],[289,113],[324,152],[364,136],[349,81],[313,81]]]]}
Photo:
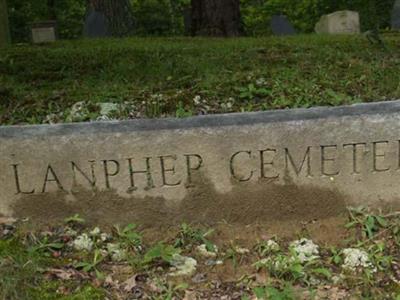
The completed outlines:
{"type": "Polygon", "coordinates": [[[400,37],[385,40],[389,52],[363,36],[317,35],[14,45],[0,50],[0,124],[87,121],[101,102],[137,118],[400,98],[400,37]],[[69,118],[80,101],[88,113],[69,118]]]}

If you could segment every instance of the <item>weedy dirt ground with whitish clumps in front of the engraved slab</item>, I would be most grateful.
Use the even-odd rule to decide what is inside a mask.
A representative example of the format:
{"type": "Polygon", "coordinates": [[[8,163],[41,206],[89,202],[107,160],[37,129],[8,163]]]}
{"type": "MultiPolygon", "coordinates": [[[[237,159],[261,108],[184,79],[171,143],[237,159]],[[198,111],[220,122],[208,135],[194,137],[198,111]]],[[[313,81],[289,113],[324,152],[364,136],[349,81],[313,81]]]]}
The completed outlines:
{"type": "Polygon", "coordinates": [[[400,299],[398,212],[349,208],[289,235],[229,224],[103,229],[78,215],[40,229],[0,223],[1,299],[400,299]]]}

